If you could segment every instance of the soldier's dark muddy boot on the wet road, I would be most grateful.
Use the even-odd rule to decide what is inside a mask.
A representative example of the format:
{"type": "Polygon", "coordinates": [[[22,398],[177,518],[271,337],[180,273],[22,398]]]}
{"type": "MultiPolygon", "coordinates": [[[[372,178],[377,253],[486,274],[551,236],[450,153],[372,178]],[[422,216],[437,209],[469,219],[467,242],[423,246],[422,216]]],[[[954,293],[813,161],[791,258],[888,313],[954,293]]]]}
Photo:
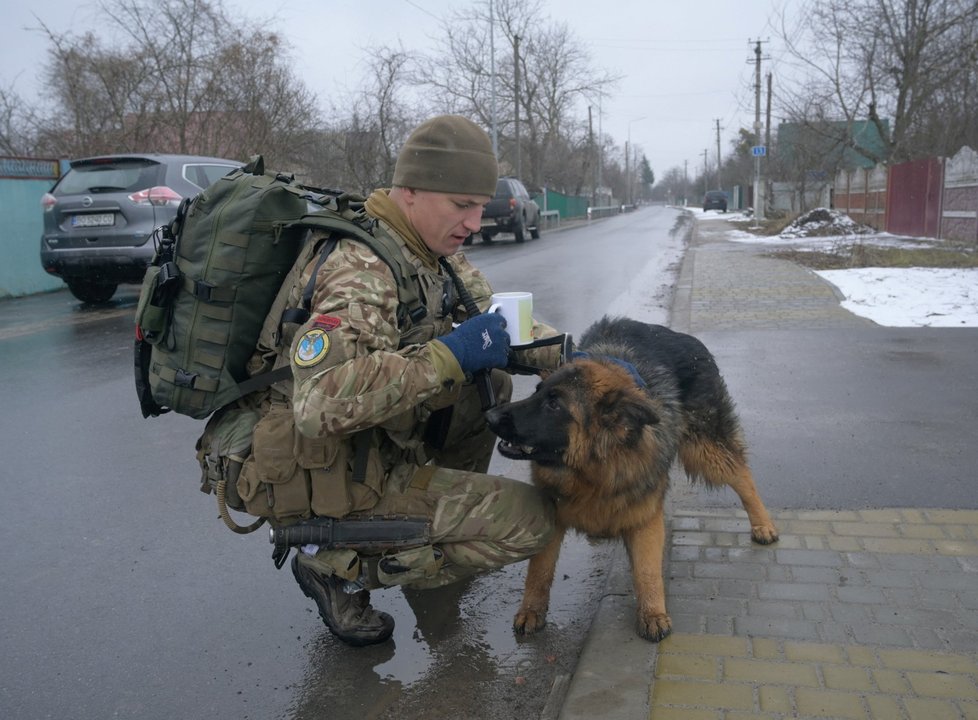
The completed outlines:
{"type": "Polygon", "coordinates": [[[331,633],[349,645],[373,645],[384,642],[394,632],[394,618],[370,606],[370,593],[359,590],[347,593],[346,583],[335,575],[320,575],[292,558],[292,574],[306,597],[319,606],[319,614],[331,633]]]}

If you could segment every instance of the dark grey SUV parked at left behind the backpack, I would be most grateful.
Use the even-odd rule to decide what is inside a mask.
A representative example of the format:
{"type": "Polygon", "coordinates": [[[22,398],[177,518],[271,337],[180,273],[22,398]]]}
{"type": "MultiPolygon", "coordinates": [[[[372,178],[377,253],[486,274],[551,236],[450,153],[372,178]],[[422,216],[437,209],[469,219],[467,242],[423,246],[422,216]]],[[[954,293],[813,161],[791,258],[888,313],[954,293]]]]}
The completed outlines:
{"type": "Polygon", "coordinates": [[[41,198],[41,265],[72,295],[107,302],[120,283],[142,282],[153,231],[241,163],[198,155],[104,155],[72,160],[41,198]]]}

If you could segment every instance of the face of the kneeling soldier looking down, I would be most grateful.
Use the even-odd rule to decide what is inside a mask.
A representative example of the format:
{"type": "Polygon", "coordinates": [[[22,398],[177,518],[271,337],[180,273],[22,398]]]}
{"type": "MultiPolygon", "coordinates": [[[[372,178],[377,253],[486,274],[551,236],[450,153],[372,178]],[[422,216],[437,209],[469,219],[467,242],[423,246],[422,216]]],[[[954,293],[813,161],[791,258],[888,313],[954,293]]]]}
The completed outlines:
{"type": "Polygon", "coordinates": [[[406,214],[424,244],[435,255],[454,255],[472,233],[482,227],[482,208],[488,195],[408,190],[406,214]]]}

